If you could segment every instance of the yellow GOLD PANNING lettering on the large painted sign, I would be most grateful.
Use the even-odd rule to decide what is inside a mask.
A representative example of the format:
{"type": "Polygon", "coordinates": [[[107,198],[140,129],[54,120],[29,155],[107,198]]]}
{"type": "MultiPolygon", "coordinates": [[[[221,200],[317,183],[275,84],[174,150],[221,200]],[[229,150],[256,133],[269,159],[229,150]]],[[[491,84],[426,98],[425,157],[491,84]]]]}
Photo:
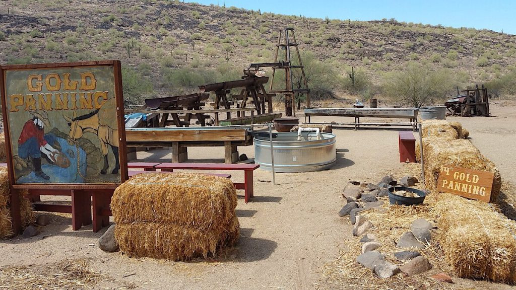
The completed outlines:
{"type": "Polygon", "coordinates": [[[79,80],[72,80],[70,76],[70,73],[30,74],[27,89],[34,93],[10,94],[9,111],[99,109],[109,99],[108,91],[95,91],[93,73],[81,73],[79,80]],[[48,92],[42,93],[43,89],[48,92]]]}

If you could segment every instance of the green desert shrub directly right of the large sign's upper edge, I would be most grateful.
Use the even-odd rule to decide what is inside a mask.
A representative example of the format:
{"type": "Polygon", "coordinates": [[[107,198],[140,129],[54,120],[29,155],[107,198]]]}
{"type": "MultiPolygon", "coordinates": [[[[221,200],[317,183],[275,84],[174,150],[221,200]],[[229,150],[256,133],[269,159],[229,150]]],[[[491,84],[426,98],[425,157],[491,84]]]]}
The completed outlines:
{"type": "Polygon", "coordinates": [[[131,67],[122,68],[124,105],[139,105],[154,91],[151,80],[131,67]]]}

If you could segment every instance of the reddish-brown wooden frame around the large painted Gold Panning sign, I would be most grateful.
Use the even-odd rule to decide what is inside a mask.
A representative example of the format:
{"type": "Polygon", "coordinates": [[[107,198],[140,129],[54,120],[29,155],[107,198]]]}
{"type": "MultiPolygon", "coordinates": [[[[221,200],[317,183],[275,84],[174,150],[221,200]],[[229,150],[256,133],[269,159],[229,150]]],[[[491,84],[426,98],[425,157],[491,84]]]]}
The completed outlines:
{"type": "Polygon", "coordinates": [[[6,72],[20,70],[41,70],[52,68],[85,68],[85,67],[112,67],[114,75],[115,102],[117,114],[117,130],[118,130],[118,155],[119,155],[119,173],[120,183],[128,179],[127,174],[127,154],[125,147],[125,124],[124,124],[124,106],[122,92],[122,73],[120,60],[101,60],[101,61],[84,61],[84,62],[63,62],[63,63],[38,63],[34,65],[9,65],[0,66],[0,91],[2,96],[2,112],[4,116],[4,131],[6,138],[6,155],[7,168],[9,177],[9,186],[11,189],[114,189],[120,183],[15,183],[14,162],[12,155],[12,143],[10,136],[10,120],[7,109],[7,91],[6,91],[6,72]]]}

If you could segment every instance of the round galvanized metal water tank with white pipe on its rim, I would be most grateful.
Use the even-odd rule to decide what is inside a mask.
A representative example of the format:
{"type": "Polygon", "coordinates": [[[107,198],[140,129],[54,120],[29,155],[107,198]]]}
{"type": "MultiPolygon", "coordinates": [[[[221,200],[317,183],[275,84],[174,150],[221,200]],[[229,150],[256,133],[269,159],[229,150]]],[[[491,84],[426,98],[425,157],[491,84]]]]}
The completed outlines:
{"type": "MultiPolygon", "coordinates": [[[[336,160],[335,135],[321,133],[317,140],[315,132],[302,132],[301,141],[297,132],[278,133],[272,138],[275,172],[307,172],[330,168],[336,160]]],[[[254,137],[254,162],[260,168],[272,171],[270,141],[267,137],[254,137]]]]}

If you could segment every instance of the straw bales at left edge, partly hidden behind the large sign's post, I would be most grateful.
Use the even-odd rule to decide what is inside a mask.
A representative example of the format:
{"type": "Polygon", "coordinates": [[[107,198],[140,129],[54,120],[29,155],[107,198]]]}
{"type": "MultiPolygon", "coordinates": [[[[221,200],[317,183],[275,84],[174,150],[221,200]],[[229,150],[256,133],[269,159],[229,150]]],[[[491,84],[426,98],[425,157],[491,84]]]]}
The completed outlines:
{"type": "MultiPolygon", "coordinates": [[[[20,195],[20,215],[22,227],[36,221],[36,214],[29,200],[25,198],[27,190],[19,190],[20,195]]],[[[10,214],[10,190],[7,168],[0,167],[0,238],[9,238],[13,235],[11,214],[10,214]]]]}

